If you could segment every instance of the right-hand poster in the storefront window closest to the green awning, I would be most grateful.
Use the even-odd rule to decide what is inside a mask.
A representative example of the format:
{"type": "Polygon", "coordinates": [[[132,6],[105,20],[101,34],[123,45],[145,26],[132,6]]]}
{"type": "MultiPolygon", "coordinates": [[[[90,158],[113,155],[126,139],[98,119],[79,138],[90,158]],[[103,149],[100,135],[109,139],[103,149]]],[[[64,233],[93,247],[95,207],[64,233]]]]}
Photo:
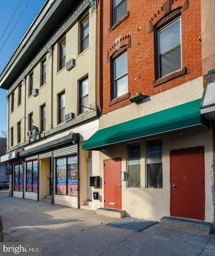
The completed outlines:
{"type": "Polygon", "coordinates": [[[77,155],[67,158],[67,187],[68,195],[78,195],[78,168],[77,155]]]}

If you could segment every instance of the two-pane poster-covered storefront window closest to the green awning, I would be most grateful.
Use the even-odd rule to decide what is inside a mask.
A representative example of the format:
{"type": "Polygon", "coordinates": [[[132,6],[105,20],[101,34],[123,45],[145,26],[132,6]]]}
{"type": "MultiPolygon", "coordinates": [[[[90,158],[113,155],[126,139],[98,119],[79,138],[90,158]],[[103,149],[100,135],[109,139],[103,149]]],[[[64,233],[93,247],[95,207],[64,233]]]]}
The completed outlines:
{"type": "Polygon", "coordinates": [[[56,194],[77,196],[78,165],[77,155],[56,159],[56,194]]]}

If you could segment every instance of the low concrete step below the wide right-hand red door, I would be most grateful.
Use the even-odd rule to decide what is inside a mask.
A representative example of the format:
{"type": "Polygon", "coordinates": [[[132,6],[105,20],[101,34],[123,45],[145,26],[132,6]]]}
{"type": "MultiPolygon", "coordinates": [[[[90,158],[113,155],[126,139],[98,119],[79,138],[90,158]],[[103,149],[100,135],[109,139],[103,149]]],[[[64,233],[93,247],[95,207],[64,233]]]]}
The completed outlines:
{"type": "Polygon", "coordinates": [[[210,234],[213,232],[213,225],[210,222],[177,218],[177,217],[163,217],[160,225],[169,228],[178,228],[187,231],[210,234]]]}

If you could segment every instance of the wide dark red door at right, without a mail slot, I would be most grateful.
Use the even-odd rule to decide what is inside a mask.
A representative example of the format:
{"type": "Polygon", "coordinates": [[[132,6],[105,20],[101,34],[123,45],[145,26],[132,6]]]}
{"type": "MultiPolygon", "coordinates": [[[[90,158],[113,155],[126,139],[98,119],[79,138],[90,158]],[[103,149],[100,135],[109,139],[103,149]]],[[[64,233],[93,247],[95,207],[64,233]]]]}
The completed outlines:
{"type": "Polygon", "coordinates": [[[204,147],[170,152],[170,214],[205,220],[204,147]]]}

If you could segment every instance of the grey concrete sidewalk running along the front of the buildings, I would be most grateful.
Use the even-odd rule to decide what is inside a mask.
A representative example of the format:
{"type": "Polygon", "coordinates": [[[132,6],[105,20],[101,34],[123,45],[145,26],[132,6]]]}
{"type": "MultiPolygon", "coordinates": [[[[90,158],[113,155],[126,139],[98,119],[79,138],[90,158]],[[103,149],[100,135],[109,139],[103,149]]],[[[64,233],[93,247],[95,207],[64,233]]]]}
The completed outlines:
{"type": "Polygon", "coordinates": [[[42,255],[215,255],[215,234],[156,224],[134,232],[95,211],[0,195],[5,242],[39,242],[42,255]]]}

